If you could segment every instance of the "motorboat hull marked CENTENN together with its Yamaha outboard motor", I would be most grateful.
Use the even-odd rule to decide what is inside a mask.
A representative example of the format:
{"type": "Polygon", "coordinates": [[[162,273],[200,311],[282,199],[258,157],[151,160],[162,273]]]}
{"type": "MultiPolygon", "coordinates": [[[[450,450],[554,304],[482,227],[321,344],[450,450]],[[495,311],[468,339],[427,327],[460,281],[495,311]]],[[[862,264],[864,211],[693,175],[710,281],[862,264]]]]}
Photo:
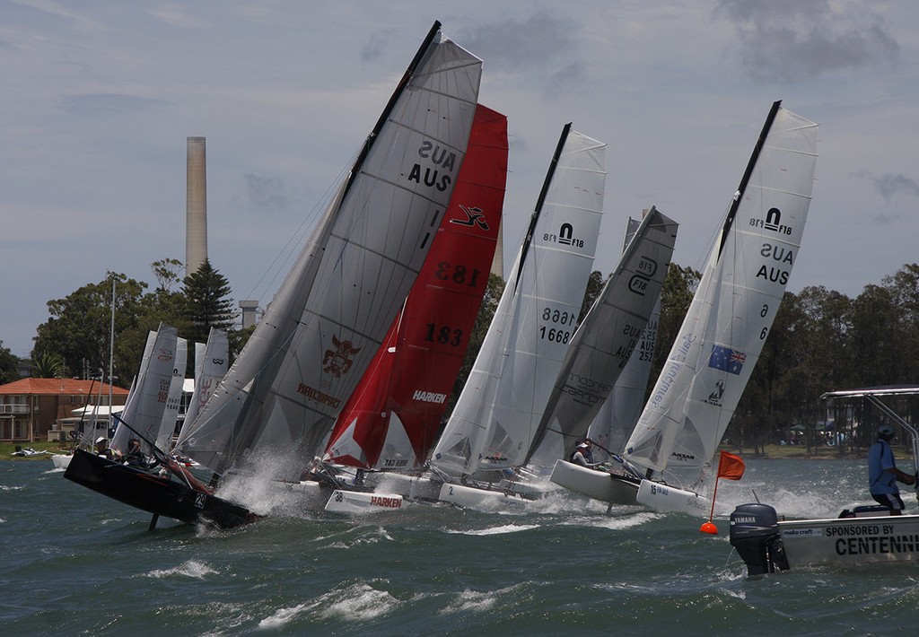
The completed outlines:
{"type": "Polygon", "coordinates": [[[879,516],[876,506],[843,515],[851,517],[779,521],[772,506],[737,506],[731,514],[731,544],[750,575],[919,561],[919,515],[879,516]]]}

